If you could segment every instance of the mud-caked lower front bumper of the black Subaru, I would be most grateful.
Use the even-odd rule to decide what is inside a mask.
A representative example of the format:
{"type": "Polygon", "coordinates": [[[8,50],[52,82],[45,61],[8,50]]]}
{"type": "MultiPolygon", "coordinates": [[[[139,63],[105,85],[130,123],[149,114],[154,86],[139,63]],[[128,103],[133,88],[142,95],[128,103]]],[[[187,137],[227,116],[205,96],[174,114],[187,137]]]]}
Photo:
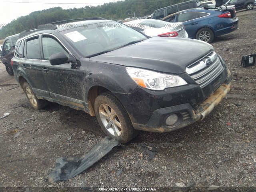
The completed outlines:
{"type": "Polygon", "coordinates": [[[205,116],[208,115],[214,109],[214,107],[217,106],[220,101],[228,94],[231,82],[231,75],[229,70],[227,70],[227,74],[228,77],[226,81],[198,106],[192,108],[192,106],[187,103],[157,109],[153,112],[147,124],[142,125],[133,123],[134,128],[136,130],[150,132],[170,132],[193,124],[198,120],[203,120],[205,116]],[[178,120],[172,126],[168,126],[166,125],[166,119],[172,114],[176,114],[178,116],[178,120]]]}

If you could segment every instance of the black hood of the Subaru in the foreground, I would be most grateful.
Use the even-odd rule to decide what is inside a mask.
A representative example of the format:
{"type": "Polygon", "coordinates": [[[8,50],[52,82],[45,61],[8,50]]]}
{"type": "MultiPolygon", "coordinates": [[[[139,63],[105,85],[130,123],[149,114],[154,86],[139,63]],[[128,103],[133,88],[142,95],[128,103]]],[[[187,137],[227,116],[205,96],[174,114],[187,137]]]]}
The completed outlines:
{"type": "Polygon", "coordinates": [[[92,57],[90,61],[179,74],[210,50],[210,44],[199,40],[153,37],[92,57]]]}

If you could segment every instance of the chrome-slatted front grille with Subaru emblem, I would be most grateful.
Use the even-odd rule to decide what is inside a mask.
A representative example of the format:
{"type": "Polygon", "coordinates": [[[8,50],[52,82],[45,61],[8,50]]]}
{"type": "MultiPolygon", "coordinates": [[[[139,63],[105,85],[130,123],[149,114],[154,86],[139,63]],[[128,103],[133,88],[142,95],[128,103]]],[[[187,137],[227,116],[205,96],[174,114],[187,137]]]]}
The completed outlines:
{"type": "Polygon", "coordinates": [[[212,51],[204,58],[188,66],[186,72],[201,88],[203,88],[212,82],[223,69],[217,54],[212,51]]]}

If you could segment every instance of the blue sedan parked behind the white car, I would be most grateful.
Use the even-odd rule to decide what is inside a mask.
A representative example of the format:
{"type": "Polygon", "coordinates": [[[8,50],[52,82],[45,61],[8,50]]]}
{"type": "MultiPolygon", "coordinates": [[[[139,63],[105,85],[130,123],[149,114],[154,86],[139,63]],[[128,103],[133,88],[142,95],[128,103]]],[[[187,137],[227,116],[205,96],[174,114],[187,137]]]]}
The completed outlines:
{"type": "Polygon", "coordinates": [[[212,42],[214,37],[230,33],[238,28],[234,7],[229,10],[194,8],[166,16],[164,21],[183,22],[188,37],[212,42]]]}

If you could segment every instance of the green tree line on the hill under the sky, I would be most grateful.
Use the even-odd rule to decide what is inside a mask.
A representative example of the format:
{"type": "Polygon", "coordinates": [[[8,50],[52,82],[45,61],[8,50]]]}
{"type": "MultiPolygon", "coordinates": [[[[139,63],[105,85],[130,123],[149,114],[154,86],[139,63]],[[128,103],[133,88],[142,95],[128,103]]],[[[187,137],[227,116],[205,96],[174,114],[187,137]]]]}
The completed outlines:
{"type": "Polygon", "coordinates": [[[24,30],[37,28],[38,25],[61,20],[93,16],[110,20],[123,20],[131,16],[134,12],[136,17],[142,17],[152,14],[156,9],[184,1],[186,0],[124,0],[105,3],[99,6],[85,6],[83,8],[62,9],[61,7],[54,7],[21,16],[8,24],[1,24],[0,39],[18,34],[24,30]]]}

